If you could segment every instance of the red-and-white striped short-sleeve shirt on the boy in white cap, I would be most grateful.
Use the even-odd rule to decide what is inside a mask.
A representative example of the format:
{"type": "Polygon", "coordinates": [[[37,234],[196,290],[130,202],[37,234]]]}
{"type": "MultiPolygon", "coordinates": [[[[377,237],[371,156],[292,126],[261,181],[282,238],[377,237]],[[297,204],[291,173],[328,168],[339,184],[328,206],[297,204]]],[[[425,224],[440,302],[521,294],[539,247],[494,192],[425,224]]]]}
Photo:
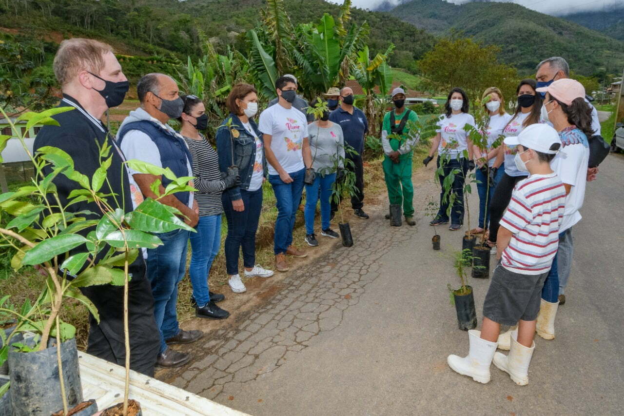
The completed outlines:
{"type": "Polygon", "coordinates": [[[565,188],[557,174],[531,175],[514,187],[500,225],[510,230],[502,266],[520,274],[550,270],[559,245],[565,188]]]}

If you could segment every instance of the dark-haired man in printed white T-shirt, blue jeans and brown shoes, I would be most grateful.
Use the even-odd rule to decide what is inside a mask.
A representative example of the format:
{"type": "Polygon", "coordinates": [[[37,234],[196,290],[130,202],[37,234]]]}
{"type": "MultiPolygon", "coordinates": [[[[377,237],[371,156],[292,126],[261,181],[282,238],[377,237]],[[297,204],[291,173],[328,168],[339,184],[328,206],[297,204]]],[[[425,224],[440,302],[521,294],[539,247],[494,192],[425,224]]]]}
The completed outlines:
{"type": "Polygon", "coordinates": [[[275,192],[278,209],[273,240],[275,268],[285,272],[288,270],[286,255],[307,256],[293,245],[293,228],[312,155],[308,121],[292,104],[296,98],[295,82],[291,77],[280,77],[275,82],[275,89],[279,101],[260,114],[258,129],[264,137],[269,182],[275,192]]]}

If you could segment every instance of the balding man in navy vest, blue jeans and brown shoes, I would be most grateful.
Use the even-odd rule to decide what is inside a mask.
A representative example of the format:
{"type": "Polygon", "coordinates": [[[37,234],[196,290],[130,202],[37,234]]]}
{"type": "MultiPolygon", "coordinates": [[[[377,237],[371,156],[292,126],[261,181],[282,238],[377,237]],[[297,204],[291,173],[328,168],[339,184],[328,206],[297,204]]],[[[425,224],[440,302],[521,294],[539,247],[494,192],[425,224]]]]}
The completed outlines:
{"type": "MultiPolygon", "coordinates": [[[[137,84],[141,106],[131,111],[117,132],[117,142],[128,159],[138,159],[158,167],[168,167],[175,176],[192,176],[192,158],[182,136],[177,134],[169,119],[182,113],[183,102],[178,86],[164,74],[147,74],[137,84]]],[[[167,178],[132,171],[143,196],[157,199],[151,186],[160,181],[163,194],[167,178]]],[[[198,221],[197,202],[192,192],[177,192],[158,199],[174,207],[183,215],[185,223],[195,227],[198,221]]],[[[178,367],[190,360],[183,354],[167,347],[167,344],[188,344],[202,337],[198,330],[185,331],[178,326],[176,311],[178,284],[184,277],[187,265],[188,231],[175,230],[157,234],[163,245],[147,250],[147,276],[152,283],[154,316],[160,329],[160,354],[157,365],[178,367]]]]}

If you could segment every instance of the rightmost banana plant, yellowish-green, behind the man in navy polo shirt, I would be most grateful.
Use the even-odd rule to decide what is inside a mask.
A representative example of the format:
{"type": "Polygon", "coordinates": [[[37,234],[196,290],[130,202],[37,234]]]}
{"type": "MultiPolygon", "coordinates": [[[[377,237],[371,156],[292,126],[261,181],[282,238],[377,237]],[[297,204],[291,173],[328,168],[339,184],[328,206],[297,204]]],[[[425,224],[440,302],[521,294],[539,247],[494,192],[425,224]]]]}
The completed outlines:
{"type": "Polygon", "coordinates": [[[358,60],[353,68],[353,76],[366,94],[364,104],[364,114],[368,119],[368,125],[371,128],[370,133],[378,136],[379,127],[381,126],[381,117],[383,117],[383,108],[375,108],[375,87],[379,87],[381,96],[386,96],[392,86],[392,72],[388,65],[388,57],[392,53],[394,45],[390,45],[386,52],[377,54],[373,59],[370,58],[368,46],[364,46],[358,52],[358,60]]]}

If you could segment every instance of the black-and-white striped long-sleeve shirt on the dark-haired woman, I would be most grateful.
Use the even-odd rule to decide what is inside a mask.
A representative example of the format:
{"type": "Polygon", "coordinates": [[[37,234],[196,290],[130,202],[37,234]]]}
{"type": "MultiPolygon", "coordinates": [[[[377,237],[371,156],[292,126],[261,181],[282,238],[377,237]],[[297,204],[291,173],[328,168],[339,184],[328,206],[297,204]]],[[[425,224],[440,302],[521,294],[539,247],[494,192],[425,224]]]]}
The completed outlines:
{"type": "Polygon", "coordinates": [[[193,157],[193,187],[199,215],[218,215],[223,212],[221,194],[225,183],[221,179],[217,151],[202,136],[202,140],[184,137],[193,157]]]}

